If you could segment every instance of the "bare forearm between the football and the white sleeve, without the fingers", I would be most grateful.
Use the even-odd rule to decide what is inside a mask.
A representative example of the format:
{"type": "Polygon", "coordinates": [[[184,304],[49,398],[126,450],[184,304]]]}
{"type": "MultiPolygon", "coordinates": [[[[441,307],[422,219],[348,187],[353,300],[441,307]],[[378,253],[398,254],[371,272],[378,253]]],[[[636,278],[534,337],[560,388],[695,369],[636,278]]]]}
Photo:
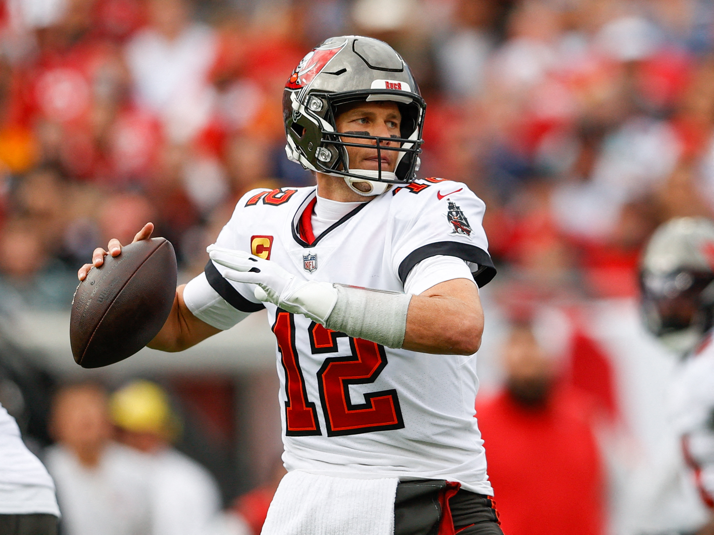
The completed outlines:
{"type": "Polygon", "coordinates": [[[159,334],[146,347],[168,352],[183,351],[221,332],[220,329],[199,320],[188,310],[186,302],[183,301],[183,287],[185,285],[176,288],[174,305],[164,327],[161,327],[159,334]]]}

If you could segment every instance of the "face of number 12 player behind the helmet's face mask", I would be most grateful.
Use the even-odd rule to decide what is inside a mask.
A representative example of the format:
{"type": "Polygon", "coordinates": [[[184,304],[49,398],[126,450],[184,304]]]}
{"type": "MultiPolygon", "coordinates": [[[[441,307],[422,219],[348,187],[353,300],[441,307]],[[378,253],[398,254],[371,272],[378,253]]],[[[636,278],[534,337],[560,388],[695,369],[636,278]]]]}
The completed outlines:
{"type": "MultiPolygon", "coordinates": [[[[401,133],[401,113],[395,102],[359,102],[340,110],[336,117],[338,132],[358,133],[383,138],[399,138],[401,133]]],[[[360,138],[342,138],[348,143],[361,143],[364,147],[346,147],[350,158],[350,168],[378,170],[381,161],[383,171],[394,172],[397,163],[397,151],[380,151],[377,155],[376,141],[360,138]]],[[[397,147],[398,143],[388,141],[380,143],[384,147],[397,147]]]]}

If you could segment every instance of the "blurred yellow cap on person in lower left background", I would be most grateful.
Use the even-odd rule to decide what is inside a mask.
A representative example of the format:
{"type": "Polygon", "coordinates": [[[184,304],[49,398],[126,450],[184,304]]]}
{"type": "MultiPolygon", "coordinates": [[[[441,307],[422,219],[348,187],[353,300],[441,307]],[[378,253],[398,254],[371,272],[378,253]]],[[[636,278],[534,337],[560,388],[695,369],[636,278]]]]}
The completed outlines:
{"type": "Polygon", "coordinates": [[[110,405],[114,423],[126,431],[153,433],[166,439],[173,439],[179,432],[169,396],[156,383],[133,381],[114,392],[110,405]]]}

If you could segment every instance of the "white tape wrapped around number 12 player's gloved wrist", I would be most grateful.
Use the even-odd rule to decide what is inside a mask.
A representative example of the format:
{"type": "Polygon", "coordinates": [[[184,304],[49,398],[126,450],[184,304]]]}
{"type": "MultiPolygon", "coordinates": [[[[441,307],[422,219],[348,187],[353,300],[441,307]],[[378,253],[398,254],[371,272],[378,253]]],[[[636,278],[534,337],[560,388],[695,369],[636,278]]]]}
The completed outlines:
{"type": "Polygon", "coordinates": [[[325,326],[398,349],[404,343],[411,294],[333,284],[337,301],[325,326]]]}

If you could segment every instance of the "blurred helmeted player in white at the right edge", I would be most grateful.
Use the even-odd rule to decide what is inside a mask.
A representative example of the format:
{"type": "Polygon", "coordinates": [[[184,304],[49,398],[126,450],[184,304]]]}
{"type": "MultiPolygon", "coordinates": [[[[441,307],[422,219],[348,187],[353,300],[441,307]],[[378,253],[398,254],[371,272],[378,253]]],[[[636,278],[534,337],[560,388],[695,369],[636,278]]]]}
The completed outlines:
{"type": "MultiPolygon", "coordinates": [[[[645,325],[682,357],[670,417],[700,499],[714,511],[714,224],[676,218],[660,226],[645,250],[640,285],[645,325]]],[[[714,535],[714,516],[696,533],[714,535]]]]}

